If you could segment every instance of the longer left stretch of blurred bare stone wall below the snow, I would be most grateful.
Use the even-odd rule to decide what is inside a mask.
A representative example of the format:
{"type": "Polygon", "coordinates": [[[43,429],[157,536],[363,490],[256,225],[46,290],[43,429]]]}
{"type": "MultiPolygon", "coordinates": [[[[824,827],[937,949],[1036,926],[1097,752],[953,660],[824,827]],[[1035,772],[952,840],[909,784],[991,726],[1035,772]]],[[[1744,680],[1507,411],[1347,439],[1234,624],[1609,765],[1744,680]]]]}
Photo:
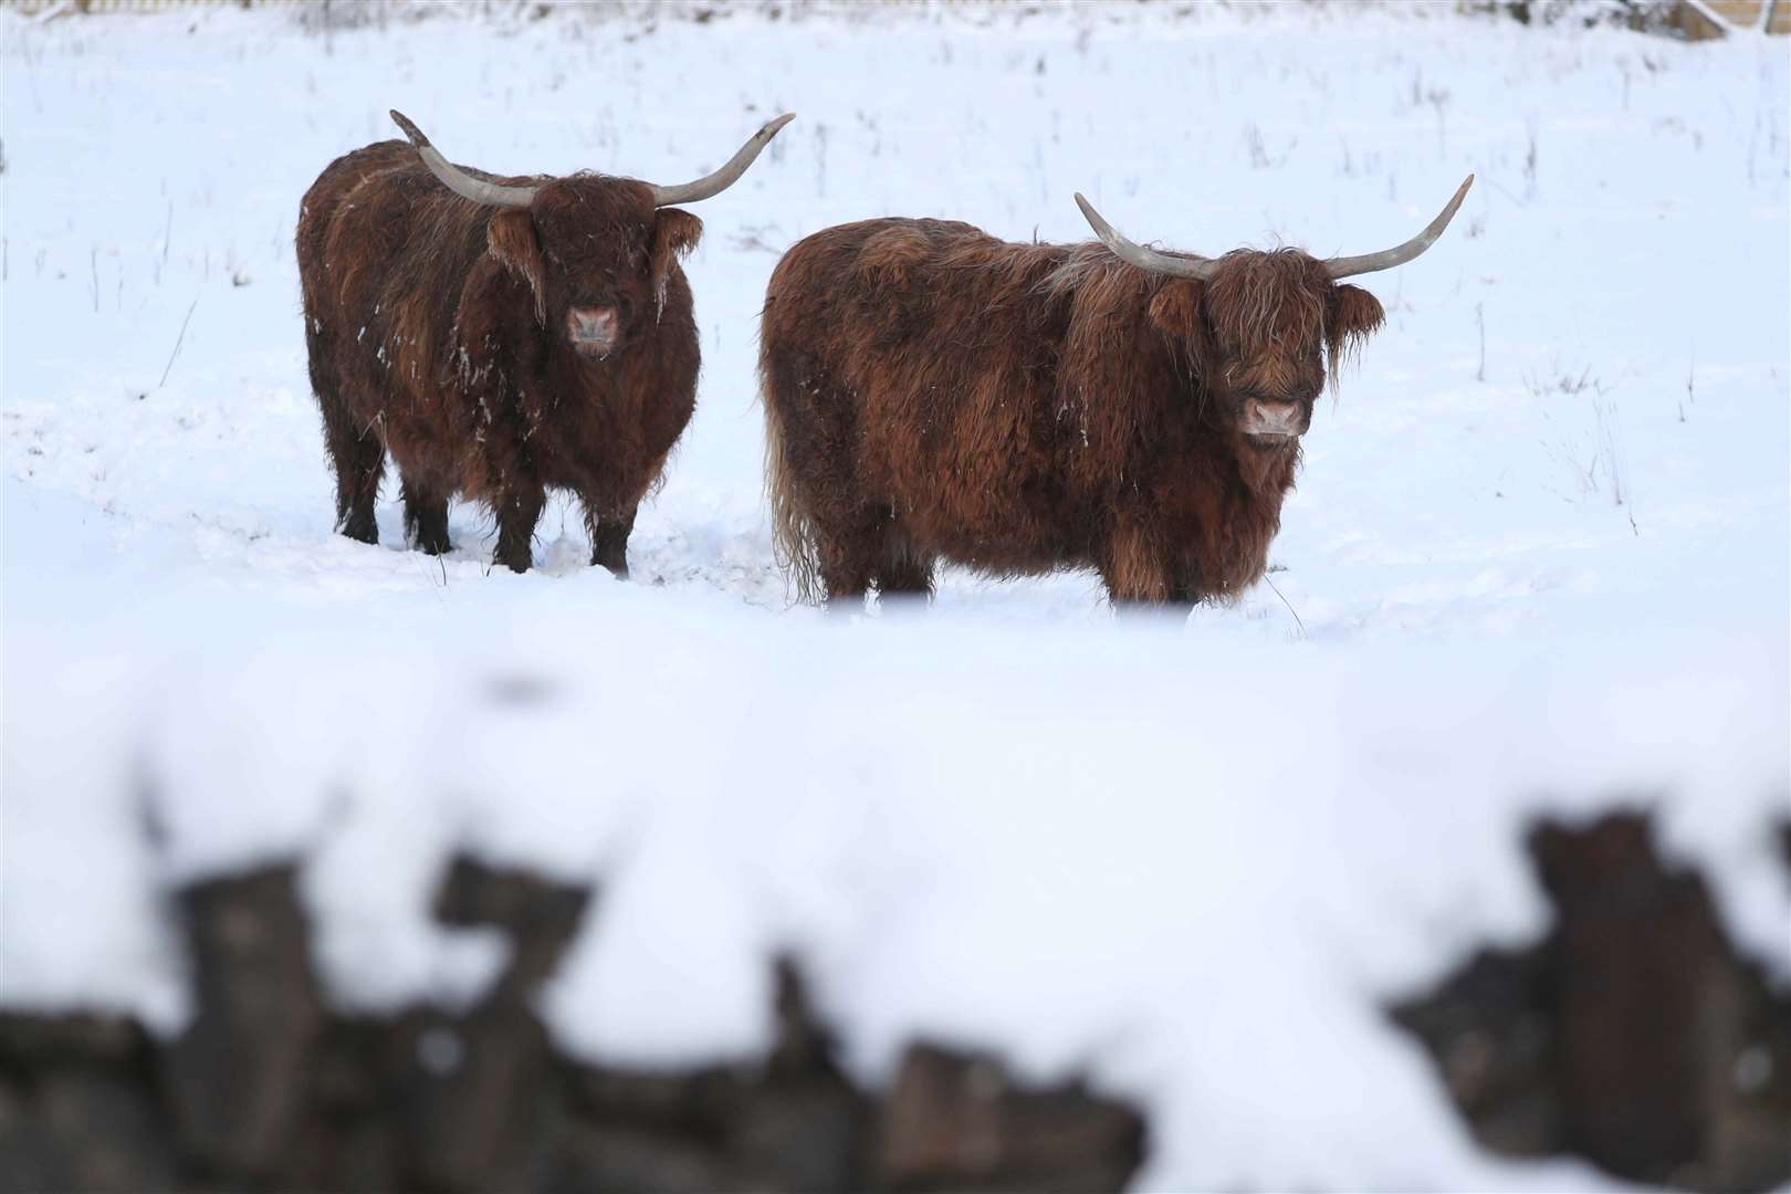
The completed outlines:
{"type": "Polygon", "coordinates": [[[297,868],[174,895],[197,1015],[0,1013],[0,1192],[1118,1190],[1144,1121],[1080,1083],[917,1042],[854,1085],[795,965],[770,1051],[645,1072],[564,1056],[532,997],[593,893],[457,861],[437,917],[509,936],[464,1013],[342,1015],[312,968],[297,868]]]}

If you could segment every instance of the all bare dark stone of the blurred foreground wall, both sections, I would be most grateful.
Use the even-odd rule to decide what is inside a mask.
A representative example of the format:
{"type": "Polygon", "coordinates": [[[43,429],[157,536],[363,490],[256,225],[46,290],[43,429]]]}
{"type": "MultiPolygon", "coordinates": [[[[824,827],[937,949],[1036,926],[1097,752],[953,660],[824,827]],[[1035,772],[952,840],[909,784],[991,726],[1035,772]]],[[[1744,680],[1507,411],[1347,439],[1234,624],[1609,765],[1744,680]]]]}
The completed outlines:
{"type": "MultiPolygon", "coordinates": [[[[1791,827],[1778,849],[1791,879],[1791,827]]],[[[1694,1190],[1791,1181],[1791,994],[1737,956],[1703,877],[1664,861],[1635,813],[1538,825],[1528,850],[1549,933],[1388,1008],[1438,1097],[1503,1156],[1694,1190]]],[[[120,1017],[0,1013],[0,1194],[1094,1192],[1144,1158],[1137,1108],[1015,1083],[994,1053],[913,1042],[888,1088],[856,1085],[786,958],[767,963],[761,1058],[570,1058],[532,1001],[602,895],[471,859],[435,915],[509,938],[493,988],[458,1013],[346,1015],[313,972],[297,881],[288,863],[170,893],[197,1008],[172,1040],[120,1017]]]]}

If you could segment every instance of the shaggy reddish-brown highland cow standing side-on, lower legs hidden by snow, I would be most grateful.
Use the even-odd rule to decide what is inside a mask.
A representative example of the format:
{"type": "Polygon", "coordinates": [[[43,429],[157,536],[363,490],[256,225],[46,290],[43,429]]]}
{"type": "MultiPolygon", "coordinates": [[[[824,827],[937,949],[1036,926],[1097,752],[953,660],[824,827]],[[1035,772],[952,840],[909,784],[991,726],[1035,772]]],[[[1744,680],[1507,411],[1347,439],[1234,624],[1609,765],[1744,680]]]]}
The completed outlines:
{"type": "Polygon", "coordinates": [[[759,374],[779,553],[804,596],[926,594],[933,564],[1100,569],[1116,601],[1227,601],[1268,564],[1313,399],[1381,326],[1359,258],[1007,243],[946,220],[799,242],[759,374]]]}

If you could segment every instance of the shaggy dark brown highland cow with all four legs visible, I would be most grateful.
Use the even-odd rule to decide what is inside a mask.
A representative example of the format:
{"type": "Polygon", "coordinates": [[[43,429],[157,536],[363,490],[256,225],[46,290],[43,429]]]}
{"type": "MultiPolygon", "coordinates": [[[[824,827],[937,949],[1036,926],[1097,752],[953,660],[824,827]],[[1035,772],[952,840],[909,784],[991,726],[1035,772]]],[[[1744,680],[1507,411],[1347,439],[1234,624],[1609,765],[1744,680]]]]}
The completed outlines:
{"type": "Polygon", "coordinates": [[[697,401],[697,324],[677,261],[702,222],[672,204],[731,186],[792,120],[681,186],[575,174],[494,179],[410,143],[330,163],[299,209],[312,387],[337,525],[378,541],[398,464],[405,526],[451,550],[448,499],[491,507],[496,562],[527,571],[548,487],[578,494],[591,562],[627,575],[634,508],[697,401]]]}

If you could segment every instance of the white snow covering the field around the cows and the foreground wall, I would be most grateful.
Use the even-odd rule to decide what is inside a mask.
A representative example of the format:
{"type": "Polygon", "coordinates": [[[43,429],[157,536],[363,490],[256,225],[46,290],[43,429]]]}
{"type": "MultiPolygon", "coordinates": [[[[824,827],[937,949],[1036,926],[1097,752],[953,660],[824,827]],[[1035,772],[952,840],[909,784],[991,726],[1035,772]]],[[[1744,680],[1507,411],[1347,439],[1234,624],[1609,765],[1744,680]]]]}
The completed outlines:
{"type": "Polygon", "coordinates": [[[913,1035],[1089,1072],[1144,1189],[1590,1189],[1472,1147],[1383,1001],[1544,909],[1528,818],[1639,802],[1791,979],[1791,63],[1429,9],[0,13],[0,1002],[184,1015],[152,899],[303,854],[349,1006],[467,999],[453,849],[602,884],[544,1013],[645,1063],[747,1053],[795,949],[849,1063],[913,1035]],[[536,571],[331,533],[292,229],[414,116],[457,161],[700,204],[704,374],[634,580],[550,505],[536,571]],[[792,605],[761,501],[765,281],[870,215],[1218,252],[1454,226],[1368,279],[1234,609],[1093,575],[792,605]],[[159,827],[154,841],[145,818],[159,827]]]}

